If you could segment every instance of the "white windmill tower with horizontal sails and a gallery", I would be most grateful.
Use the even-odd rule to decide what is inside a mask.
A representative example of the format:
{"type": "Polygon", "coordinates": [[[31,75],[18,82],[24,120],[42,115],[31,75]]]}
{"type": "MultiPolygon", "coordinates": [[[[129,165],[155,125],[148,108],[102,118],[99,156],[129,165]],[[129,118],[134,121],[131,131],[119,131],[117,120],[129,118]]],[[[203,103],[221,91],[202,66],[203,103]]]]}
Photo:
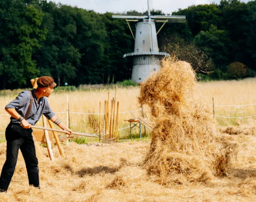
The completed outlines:
{"type": "Polygon", "coordinates": [[[168,22],[183,23],[186,21],[186,16],[161,16],[150,14],[152,9],[152,0],[147,0],[148,15],[144,16],[128,16],[128,15],[113,15],[113,18],[126,19],[130,28],[129,21],[138,22],[136,26],[135,37],[133,31],[130,31],[135,40],[134,52],[124,54],[123,57],[133,56],[133,71],[132,81],[143,82],[152,72],[157,71],[160,67],[159,58],[169,56],[168,53],[159,52],[157,34],[168,22]],[[156,31],[156,22],[162,22],[162,27],[156,31]]]}

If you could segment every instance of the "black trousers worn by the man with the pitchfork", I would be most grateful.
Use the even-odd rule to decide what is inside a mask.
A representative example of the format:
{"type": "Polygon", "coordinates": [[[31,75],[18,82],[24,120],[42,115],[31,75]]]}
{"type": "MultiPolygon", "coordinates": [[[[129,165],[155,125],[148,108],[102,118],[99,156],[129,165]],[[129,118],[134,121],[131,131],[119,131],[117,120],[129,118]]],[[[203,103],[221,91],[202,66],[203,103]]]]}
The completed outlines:
{"type": "Polygon", "coordinates": [[[7,140],[6,161],[0,177],[0,191],[7,191],[17,163],[19,149],[22,152],[29,185],[39,187],[39,168],[36,150],[32,137],[32,129],[24,129],[18,125],[9,124],[5,131],[7,140]]]}

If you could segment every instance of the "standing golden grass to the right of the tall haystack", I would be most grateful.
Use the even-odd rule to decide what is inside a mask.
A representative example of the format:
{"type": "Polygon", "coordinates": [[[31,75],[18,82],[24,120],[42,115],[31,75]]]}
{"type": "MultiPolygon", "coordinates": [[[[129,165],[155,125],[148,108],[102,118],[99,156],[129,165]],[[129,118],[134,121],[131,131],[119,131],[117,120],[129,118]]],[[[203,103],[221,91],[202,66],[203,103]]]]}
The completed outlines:
{"type": "MultiPolygon", "coordinates": [[[[256,115],[256,105],[240,106],[256,103],[256,78],[231,81],[199,82],[198,94],[215,115],[228,117],[246,117],[256,115]],[[229,107],[218,106],[228,105],[229,107]],[[236,106],[230,106],[236,105],[236,106]]],[[[215,117],[221,125],[246,124],[250,118],[231,119],[215,117]]],[[[254,118],[254,117],[252,117],[254,118]]]]}

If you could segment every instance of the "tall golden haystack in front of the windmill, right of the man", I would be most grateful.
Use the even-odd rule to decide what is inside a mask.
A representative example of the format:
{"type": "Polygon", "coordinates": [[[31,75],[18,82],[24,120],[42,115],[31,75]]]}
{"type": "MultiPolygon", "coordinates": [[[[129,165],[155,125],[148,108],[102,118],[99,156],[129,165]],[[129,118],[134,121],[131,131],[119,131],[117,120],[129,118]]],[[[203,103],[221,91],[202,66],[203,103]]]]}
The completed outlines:
{"type": "Polygon", "coordinates": [[[191,65],[171,58],[141,85],[139,102],[156,118],[145,167],[161,184],[206,181],[227,171],[232,149],[195,86],[191,65]]]}

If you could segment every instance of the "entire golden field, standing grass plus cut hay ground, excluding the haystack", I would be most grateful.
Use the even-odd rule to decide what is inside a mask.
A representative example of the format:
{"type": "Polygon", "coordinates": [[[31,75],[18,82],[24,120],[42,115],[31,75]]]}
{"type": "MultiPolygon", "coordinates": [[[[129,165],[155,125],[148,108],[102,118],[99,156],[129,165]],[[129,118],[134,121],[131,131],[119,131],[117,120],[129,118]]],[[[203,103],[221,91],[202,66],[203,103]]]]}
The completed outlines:
{"type": "MultiPolygon", "coordinates": [[[[240,81],[199,82],[197,93],[205,105],[244,105],[256,103],[256,79],[240,81]]],[[[114,89],[110,89],[111,97],[114,89]]],[[[53,94],[48,98],[53,111],[65,112],[67,94],[70,112],[98,113],[99,101],[104,102],[108,90],[91,92],[70,92],[53,94]]],[[[139,109],[139,87],[118,89],[117,99],[120,112],[139,109]]],[[[5,114],[4,106],[14,96],[0,98],[0,114],[5,114]]],[[[210,106],[212,109],[212,106],[210,106]]],[[[103,109],[101,110],[103,112],[103,109]]],[[[244,117],[255,115],[255,106],[220,107],[215,106],[215,115],[244,117]]],[[[88,124],[88,115],[71,115],[70,127],[76,132],[97,132],[88,124]]],[[[63,122],[66,115],[60,114],[63,122]]],[[[95,120],[98,115],[95,115],[95,120]]],[[[119,116],[119,128],[133,118],[129,113],[119,116]]],[[[0,132],[4,132],[8,116],[1,115],[0,132]]],[[[217,118],[221,125],[248,124],[253,127],[253,119],[217,118]]],[[[28,186],[27,171],[21,153],[7,193],[0,193],[0,201],[255,201],[256,197],[256,134],[223,134],[225,139],[237,144],[237,159],[232,159],[232,167],[227,176],[214,177],[205,182],[188,184],[169,183],[161,185],[157,177],[148,175],[144,167],[145,155],[150,148],[150,139],[127,141],[104,146],[86,146],[70,143],[63,146],[66,158],[53,148],[55,161],[50,161],[47,148],[36,145],[39,159],[41,189],[28,186]]],[[[129,136],[129,129],[120,132],[129,136]]],[[[6,143],[0,144],[0,166],[5,161],[6,143]]]]}

